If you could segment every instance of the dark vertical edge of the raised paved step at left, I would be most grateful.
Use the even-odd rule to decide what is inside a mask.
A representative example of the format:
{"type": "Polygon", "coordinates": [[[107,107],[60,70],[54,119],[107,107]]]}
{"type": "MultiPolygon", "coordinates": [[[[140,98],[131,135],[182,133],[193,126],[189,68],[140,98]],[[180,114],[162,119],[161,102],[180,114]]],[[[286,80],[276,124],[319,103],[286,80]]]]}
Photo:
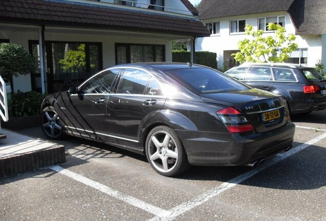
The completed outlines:
{"type": "Polygon", "coordinates": [[[39,167],[66,162],[64,145],[0,158],[0,179],[39,167]]]}

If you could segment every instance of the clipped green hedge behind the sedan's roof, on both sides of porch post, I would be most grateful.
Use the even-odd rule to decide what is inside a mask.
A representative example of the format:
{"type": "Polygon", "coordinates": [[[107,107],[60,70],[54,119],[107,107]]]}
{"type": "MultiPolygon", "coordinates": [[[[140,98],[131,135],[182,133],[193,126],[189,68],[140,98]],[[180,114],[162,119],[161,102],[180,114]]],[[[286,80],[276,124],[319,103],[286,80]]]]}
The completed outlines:
{"type": "MultiPolygon", "coordinates": [[[[216,53],[200,51],[196,52],[196,64],[205,65],[207,67],[217,69],[216,53]]],[[[189,51],[172,51],[173,62],[190,62],[189,51]]]]}

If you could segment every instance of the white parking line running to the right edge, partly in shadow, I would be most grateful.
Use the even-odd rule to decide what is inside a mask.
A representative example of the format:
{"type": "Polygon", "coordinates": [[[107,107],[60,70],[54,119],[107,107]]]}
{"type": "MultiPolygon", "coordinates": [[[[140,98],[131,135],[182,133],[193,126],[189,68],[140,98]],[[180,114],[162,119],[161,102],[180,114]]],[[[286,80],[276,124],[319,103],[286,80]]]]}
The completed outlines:
{"type": "MultiPolygon", "coordinates": [[[[238,176],[236,176],[235,178],[231,179],[230,181],[228,182],[225,182],[225,183],[222,183],[221,185],[193,198],[193,200],[191,201],[188,201],[188,202],[185,202],[185,203],[182,203],[172,209],[169,210],[170,212],[170,215],[167,215],[165,216],[164,214],[159,214],[158,216],[155,216],[151,219],[149,219],[149,221],[156,221],[156,220],[165,220],[165,221],[169,221],[169,220],[173,220],[174,218],[176,218],[177,216],[193,209],[194,207],[196,206],[199,206],[205,202],[207,202],[210,198],[214,197],[214,196],[217,196],[219,195],[220,193],[236,186],[237,184],[251,178],[252,176],[254,176],[255,174],[259,173],[260,171],[264,170],[264,169],[267,169],[279,162],[281,162],[282,160],[290,157],[291,155],[317,143],[318,141],[322,140],[326,138],[326,133],[304,143],[304,144],[301,144],[291,150],[289,150],[288,152],[286,153],[282,153],[282,154],[278,154],[276,157],[268,160],[266,163],[262,164],[261,166],[253,169],[253,170],[250,170],[246,173],[242,173],[238,176]]],[[[166,212],[165,212],[166,213],[166,212]]],[[[168,214],[168,213],[166,213],[168,214]]]]}

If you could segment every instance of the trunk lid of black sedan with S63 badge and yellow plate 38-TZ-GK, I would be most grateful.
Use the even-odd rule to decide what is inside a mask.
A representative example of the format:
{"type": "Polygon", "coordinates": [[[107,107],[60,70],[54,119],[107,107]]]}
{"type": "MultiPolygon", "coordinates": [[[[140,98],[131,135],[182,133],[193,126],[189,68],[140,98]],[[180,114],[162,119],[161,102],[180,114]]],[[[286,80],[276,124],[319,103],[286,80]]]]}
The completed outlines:
{"type": "Polygon", "coordinates": [[[281,96],[251,89],[247,91],[202,94],[203,101],[236,108],[258,132],[276,129],[287,123],[288,109],[281,96]]]}

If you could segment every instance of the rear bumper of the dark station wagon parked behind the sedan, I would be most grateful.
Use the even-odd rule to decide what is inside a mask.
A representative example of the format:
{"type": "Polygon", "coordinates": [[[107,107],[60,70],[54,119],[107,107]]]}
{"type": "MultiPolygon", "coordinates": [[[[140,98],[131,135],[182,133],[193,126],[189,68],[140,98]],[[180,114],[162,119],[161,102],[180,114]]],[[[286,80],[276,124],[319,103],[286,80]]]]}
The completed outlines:
{"type": "Polygon", "coordinates": [[[299,100],[293,101],[291,105],[292,114],[308,113],[312,111],[318,111],[326,109],[326,97],[319,100],[299,100]]]}

